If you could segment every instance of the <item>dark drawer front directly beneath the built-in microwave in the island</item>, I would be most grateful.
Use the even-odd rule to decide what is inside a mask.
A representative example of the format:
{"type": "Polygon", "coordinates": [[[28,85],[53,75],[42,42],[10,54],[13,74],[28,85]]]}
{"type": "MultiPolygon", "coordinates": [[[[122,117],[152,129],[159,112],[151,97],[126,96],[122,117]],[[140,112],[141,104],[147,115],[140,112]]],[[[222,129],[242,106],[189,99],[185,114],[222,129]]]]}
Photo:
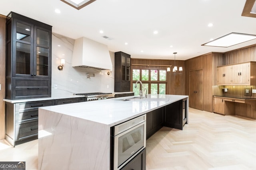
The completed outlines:
{"type": "Polygon", "coordinates": [[[146,148],[128,162],[121,170],[146,170],[146,148]]]}

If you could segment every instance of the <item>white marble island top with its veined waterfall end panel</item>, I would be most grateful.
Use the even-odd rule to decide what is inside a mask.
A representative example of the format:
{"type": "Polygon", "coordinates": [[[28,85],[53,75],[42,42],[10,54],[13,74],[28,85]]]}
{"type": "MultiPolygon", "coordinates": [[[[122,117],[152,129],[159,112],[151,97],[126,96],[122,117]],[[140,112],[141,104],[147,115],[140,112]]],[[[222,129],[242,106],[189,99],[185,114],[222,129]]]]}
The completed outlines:
{"type": "Polygon", "coordinates": [[[188,100],[180,95],[137,97],[40,107],[38,169],[109,170],[110,127],[188,100]]]}

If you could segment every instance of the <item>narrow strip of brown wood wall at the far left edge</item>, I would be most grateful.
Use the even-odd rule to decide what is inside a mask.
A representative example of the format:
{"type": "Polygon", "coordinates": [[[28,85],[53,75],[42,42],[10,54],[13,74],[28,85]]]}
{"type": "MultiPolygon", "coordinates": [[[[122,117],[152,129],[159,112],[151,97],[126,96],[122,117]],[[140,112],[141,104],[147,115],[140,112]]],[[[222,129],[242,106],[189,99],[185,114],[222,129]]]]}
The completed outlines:
{"type": "Polygon", "coordinates": [[[6,51],[6,37],[5,37],[5,16],[0,15],[0,140],[4,139],[5,134],[5,51],[6,51]]]}

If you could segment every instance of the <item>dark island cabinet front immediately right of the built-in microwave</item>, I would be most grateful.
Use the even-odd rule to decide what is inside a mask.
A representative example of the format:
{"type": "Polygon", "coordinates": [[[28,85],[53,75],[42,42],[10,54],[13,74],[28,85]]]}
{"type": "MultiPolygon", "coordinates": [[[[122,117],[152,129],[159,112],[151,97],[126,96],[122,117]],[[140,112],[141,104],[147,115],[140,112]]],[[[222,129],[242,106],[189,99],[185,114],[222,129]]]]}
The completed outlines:
{"type": "Polygon", "coordinates": [[[163,115],[163,107],[147,113],[146,139],[150,138],[154,133],[163,127],[163,115]]]}

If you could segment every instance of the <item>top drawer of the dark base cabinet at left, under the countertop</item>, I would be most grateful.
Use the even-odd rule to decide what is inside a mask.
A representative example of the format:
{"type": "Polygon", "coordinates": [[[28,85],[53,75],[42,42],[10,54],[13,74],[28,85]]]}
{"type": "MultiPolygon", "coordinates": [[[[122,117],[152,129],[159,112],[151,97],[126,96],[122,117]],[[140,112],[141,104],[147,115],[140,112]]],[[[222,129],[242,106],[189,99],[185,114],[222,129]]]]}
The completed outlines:
{"type": "Polygon", "coordinates": [[[38,107],[52,106],[52,100],[42,102],[24,102],[16,104],[15,111],[23,111],[25,109],[35,109],[38,107]]]}

